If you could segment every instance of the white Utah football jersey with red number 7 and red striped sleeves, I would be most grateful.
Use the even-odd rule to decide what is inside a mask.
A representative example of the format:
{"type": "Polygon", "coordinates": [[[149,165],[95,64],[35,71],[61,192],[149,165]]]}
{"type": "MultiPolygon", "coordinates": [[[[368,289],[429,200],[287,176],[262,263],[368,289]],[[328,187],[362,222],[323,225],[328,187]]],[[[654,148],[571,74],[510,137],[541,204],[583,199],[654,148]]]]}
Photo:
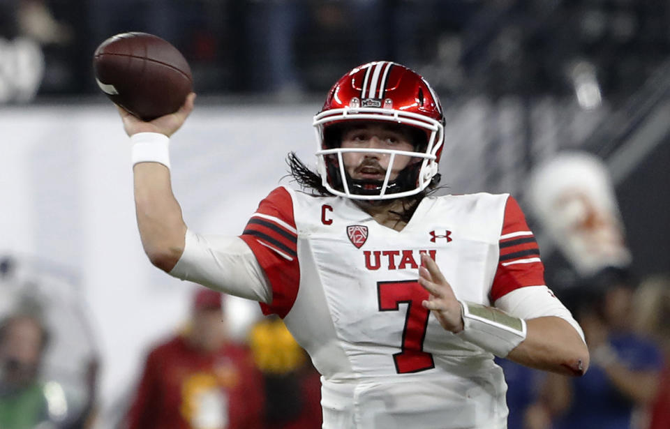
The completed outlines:
{"type": "Polygon", "coordinates": [[[544,285],[532,232],[509,195],[425,197],[402,231],[342,197],[276,188],[241,238],[322,374],[324,428],[505,428],[493,355],[442,329],[417,282],[428,253],[461,300],[493,305],[544,285]]]}

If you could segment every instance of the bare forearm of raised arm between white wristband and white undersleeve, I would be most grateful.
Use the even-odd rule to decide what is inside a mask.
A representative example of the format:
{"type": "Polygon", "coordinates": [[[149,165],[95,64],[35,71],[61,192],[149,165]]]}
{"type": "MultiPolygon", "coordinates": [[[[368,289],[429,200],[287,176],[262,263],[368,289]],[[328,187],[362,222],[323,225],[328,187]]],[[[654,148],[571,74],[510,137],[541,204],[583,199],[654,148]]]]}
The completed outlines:
{"type": "Polygon", "coordinates": [[[135,211],[144,252],[151,263],[170,271],[184,252],[186,224],[172,194],[170,170],[159,163],[137,163],[135,211]]]}

